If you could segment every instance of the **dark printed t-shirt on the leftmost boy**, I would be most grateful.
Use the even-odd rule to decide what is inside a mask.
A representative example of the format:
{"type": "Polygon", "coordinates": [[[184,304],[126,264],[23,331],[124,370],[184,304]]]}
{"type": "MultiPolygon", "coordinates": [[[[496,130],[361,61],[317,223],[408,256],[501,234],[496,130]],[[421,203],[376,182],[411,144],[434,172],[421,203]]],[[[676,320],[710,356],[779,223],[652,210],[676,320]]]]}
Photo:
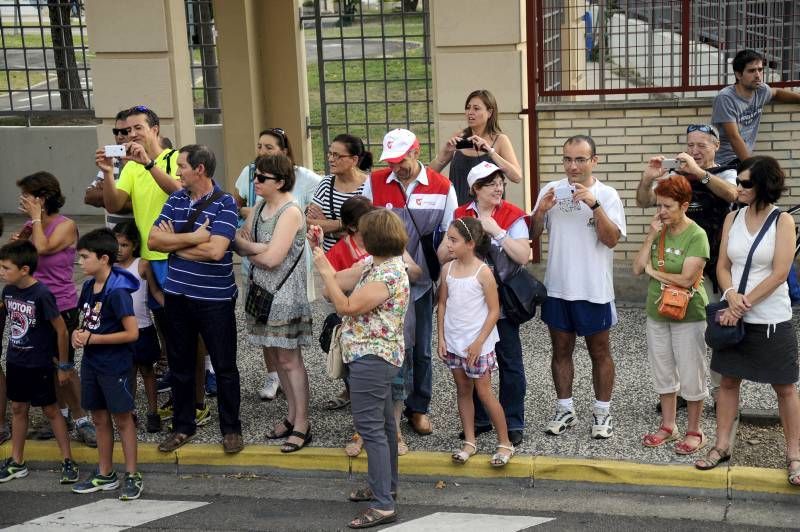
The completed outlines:
{"type": "Polygon", "coordinates": [[[8,362],[26,368],[52,368],[58,358],[58,338],[50,320],[58,317],[56,298],[40,282],[20,289],[3,288],[3,303],[11,323],[8,362]]]}

